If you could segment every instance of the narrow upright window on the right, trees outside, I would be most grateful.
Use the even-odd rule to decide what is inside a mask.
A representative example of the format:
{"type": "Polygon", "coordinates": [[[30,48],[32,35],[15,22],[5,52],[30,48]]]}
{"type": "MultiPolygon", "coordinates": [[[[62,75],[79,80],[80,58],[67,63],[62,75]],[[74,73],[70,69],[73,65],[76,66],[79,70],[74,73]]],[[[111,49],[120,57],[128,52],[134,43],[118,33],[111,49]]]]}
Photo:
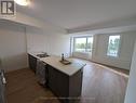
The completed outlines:
{"type": "Polygon", "coordinates": [[[107,55],[118,56],[120,47],[120,35],[109,36],[108,51],[107,55]]]}

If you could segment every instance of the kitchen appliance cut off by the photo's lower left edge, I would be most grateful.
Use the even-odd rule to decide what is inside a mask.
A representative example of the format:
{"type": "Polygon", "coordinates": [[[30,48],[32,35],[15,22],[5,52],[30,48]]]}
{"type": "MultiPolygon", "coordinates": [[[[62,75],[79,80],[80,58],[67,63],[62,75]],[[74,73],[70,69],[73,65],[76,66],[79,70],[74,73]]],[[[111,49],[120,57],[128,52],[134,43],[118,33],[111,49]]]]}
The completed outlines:
{"type": "Polygon", "coordinates": [[[0,68],[0,103],[5,103],[5,83],[4,70],[0,68]]]}

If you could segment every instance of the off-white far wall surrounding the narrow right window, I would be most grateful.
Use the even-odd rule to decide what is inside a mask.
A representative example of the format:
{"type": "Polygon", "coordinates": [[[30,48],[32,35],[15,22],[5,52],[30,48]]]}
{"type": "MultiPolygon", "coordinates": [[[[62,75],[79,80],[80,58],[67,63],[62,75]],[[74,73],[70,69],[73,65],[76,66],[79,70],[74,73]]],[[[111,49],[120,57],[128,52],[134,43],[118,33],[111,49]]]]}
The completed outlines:
{"type": "Polygon", "coordinates": [[[94,44],[92,61],[120,68],[130,69],[136,35],[135,33],[121,33],[119,35],[121,35],[119,57],[107,56],[109,35],[94,36],[96,41],[94,44]]]}

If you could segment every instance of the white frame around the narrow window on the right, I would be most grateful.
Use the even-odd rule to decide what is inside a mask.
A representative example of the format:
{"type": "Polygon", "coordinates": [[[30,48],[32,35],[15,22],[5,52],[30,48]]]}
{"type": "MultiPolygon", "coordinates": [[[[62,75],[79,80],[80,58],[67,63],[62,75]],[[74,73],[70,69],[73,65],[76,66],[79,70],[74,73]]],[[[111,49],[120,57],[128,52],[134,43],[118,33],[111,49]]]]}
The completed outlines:
{"type": "Polygon", "coordinates": [[[120,35],[120,34],[109,35],[109,36],[108,36],[108,43],[107,43],[106,55],[107,55],[108,57],[114,57],[114,59],[119,57],[119,56],[120,56],[120,51],[121,51],[121,42],[122,42],[122,35],[120,35]],[[120,36],[120,42],[119,42],[119,48],[118,48],[118,54],[117,54],[117,56],[113,56],[113,55],[109,55],[109,54],[108,54],[108,47],[109,47],[109,38],[110,38],[110,36],[120,36]]]}

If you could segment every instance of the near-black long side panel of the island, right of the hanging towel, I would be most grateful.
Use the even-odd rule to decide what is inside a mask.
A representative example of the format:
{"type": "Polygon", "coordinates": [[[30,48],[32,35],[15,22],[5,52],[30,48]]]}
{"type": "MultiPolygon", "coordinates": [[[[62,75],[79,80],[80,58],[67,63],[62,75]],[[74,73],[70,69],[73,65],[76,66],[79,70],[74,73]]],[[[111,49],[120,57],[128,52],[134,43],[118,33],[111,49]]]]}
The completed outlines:
{"type": "Polygon", "coordinates": [[[47,66],[47,69],[49,69],[49,87],[51,88],[51,90],[57,96],[68,98],[69,77],[50,65],[47,66]]]}

